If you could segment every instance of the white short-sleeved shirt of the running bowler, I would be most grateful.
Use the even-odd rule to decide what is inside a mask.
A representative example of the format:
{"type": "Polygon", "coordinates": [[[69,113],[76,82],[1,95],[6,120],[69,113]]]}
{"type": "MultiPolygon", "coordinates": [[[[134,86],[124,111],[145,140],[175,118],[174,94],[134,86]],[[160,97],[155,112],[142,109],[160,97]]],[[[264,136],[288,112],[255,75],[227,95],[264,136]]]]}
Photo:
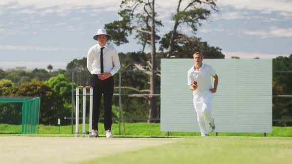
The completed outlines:
{"type": "Polygon", "coordinates": [[[209,89],[213,88],[211,76],[215,76],[216,72],[207,64],[202,64],[199,71],[196,71],[194,67],[195,65],[188,71],[188,85],[191,85],[194,81],[197,82],[197,88],[193,91],[193,95],[210,93],[209,89]]]}

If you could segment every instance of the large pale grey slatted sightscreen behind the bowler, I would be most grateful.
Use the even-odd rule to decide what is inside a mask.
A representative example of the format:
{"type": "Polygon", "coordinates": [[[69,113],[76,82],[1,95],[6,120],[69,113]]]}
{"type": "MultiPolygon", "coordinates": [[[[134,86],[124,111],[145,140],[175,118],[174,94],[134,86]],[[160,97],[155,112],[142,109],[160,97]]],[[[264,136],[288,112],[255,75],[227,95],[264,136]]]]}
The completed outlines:
{"type": "MultiPolygon", "coordinates": [[[[212,107],[215,131],[271,132],[272,60],[204,59],[203,63],[212,65],[219,77],[212,107]]],[[[161,59],[161,131],[199,131],[187,84],[193,65],[193,59],[161,59]]]]}

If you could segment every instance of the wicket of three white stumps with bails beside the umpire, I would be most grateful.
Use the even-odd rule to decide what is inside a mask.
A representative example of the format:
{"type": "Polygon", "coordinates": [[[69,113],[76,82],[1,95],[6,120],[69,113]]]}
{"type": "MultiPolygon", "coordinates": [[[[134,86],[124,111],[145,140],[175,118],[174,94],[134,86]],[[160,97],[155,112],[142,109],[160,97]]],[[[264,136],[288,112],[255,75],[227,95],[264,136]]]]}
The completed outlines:
{"type": "Polygon", "coordinates": [[[90,105],[89,105],[89,137],[92,131],[92,101],[93,101],[93,87],[91,86],[77,86],[76,87],[76,112],[75,112],[75,137],[79,134],[79,89],[83,88],[83,105],[82,105],[82,137],[85,137],[85,114],[86,114],[86,90],[90,89],[90,105]]]}

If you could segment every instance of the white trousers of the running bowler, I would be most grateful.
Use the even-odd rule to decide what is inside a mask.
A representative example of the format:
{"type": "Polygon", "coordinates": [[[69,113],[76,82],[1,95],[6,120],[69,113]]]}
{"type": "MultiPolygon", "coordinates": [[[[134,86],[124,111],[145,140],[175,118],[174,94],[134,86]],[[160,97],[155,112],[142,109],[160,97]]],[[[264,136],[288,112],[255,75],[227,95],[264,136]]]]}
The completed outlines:
{"type": "Polygon", "coordinates": [[[211,107],[213,104],[213,94],[194,95],[194,106],[197,114],[197,122],[201,131],[201,136],[208,134],[206,124],[211,123],[211,107]]]}

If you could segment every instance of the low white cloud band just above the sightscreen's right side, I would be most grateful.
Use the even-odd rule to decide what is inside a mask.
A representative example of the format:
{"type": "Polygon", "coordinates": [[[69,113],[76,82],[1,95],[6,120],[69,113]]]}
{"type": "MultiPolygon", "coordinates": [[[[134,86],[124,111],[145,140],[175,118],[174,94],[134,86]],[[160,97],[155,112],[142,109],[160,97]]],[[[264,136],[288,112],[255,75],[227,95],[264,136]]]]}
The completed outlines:
{"type": "Polygon", "coordinates": [[[273,59],[278,56],[289,56],[289,54],[272,54],[272,53],[249,53],[249,52],[235,52],[235,51],[222,51],[225,59],[231,59],[231,56],[238,56],[241,59],[253,59],[259,57],[260,59],[273,59]]]}

